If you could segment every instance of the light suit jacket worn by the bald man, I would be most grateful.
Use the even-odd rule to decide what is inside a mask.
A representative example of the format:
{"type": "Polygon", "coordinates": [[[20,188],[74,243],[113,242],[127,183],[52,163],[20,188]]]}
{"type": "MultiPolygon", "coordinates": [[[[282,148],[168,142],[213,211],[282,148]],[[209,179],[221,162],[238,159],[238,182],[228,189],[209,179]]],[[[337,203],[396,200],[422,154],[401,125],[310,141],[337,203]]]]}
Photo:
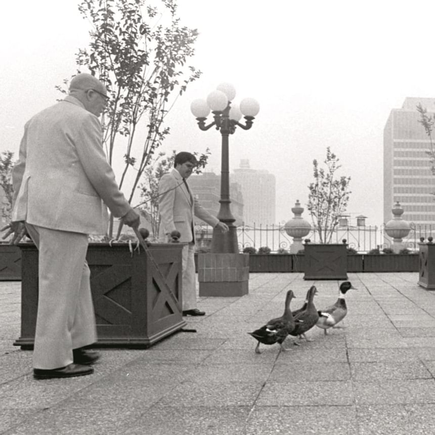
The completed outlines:
{"type": "Polygon", "coordinates": [[[117,218],[130,209],[107,162],[98,117],[72,96],[26,123],[12,182],[12,221],[106,234],[104,203],[117,218]]]}

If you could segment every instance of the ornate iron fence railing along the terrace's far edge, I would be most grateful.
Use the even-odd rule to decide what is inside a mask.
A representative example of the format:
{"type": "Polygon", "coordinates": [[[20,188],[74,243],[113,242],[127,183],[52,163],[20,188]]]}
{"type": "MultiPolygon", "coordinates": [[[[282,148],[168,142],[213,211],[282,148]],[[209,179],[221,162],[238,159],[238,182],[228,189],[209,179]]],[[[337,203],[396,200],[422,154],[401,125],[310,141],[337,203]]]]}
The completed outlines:
{"type": "MultiPolygon", "coordinates": [[[[435,225],[413,225],[410,224],[409,234],[403,238],[404,247],[410,251],[418,250],[420,238],[435,235],[435,225]]],[[[197,236],[197,247],[209,246],[212,229],[207,225],[195,226],[197,236]]],[[[282,225],[240,225],[237,227],[237,238],[240,251],[245,247],[252,246],[256,249],[267,246],[272,252],[280,250],[290,250],[293,238],[289,236],[285,227],[282,225]]],[[[310,239],[312,243],[319,243],[319,235],[315,231],[303,238],[310,239]]],[[[342,243],[345,239],[349,247],[354,248],[357,252],[367,253],[372,249],[389,248],[393,244],[393,239],[385,232],[385,224],[380,226],[360,226],[360,227],[337,227],[333,234],[331,243],[342,243]]]]}

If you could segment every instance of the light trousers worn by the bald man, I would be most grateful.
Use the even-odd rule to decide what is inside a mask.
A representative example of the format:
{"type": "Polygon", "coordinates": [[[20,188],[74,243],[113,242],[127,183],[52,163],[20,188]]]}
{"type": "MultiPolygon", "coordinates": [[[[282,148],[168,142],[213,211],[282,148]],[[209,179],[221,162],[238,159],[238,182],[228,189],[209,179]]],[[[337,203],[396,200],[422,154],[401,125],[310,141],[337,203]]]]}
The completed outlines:
{"type": "Polygon", "coordinates": [[[73,362],[72,350],[97,340],[88,235],[26,224],[39,251],[39,295],[33,368],[73,362]]]}

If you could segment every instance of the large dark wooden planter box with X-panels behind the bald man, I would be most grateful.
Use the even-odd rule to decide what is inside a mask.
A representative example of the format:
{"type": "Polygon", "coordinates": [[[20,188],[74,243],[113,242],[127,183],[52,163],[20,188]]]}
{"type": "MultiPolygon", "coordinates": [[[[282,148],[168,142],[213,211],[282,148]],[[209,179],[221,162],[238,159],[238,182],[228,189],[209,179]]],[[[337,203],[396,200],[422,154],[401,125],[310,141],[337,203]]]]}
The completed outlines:
{"type": "MultiPolygon", "coordinates": [[[[19,246],[21,336],[14,344],[29,349],[36,326],[38,251],[32,243],[19,246]]],[[[124,243],[89,245],[86,260],[91,269],[97,345],[148,347],[186,325],[182,317],[183,244],[153,244],[149,249],[164,278],[143,249],[132,255],[124,243]]]]}

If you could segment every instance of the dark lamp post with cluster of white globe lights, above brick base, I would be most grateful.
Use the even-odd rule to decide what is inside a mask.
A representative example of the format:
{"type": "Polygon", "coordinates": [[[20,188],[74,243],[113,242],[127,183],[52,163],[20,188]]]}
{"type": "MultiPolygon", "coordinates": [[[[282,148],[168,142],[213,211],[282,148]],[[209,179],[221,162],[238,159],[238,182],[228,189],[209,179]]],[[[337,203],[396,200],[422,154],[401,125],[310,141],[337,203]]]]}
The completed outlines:
{"type": "Polygon", "coordinates": [[[221,199],[219,213],[216,217],[227,224],[230,231],[223,234],[220,230],[213,229],[211,252],[214,253],[239,252],[237,228],[230,209],[229,136],[234,134],[237,126],[244,130],[251,128],[254,116],[259,111],[259,105],[253,98],[243,99],[239,107],[233,105],[232,101],[235,96],[236,91],[233,85],[221,83],[216,91],[207,96],[206,100],[194,100],[190,106],[201,130],[206,131],[215,126],[222,136],[221,199]],[[206,124],[210,110],[213,114],[213,121],[206,124]],[[239,122],[242,115],[244,115],[245,124],[239,122]]]}

